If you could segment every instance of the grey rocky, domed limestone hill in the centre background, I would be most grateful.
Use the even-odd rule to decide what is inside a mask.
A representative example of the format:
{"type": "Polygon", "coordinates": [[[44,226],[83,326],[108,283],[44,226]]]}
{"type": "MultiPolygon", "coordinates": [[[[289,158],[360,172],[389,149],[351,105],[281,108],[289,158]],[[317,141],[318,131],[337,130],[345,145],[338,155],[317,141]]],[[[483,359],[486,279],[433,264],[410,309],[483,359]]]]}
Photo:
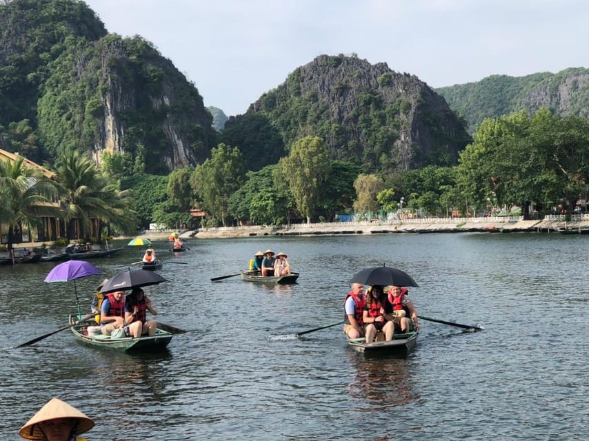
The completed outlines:
{"type": "Polygon", "coordinates": [[[446,101],[416,76],[341,55],[298,68],[248,113],[266,115],[287,146],[316,132],[334,158],[375,170],[451,165],[470,139],[446,101]]]}

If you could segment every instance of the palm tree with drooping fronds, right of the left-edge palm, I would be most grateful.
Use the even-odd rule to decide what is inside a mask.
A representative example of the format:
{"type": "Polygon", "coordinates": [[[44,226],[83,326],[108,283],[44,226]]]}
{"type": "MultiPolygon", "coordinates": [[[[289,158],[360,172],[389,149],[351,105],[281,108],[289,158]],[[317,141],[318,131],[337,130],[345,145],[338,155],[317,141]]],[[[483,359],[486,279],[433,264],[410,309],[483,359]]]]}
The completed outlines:
{"type": "MultiPolygon", "coordinates": [[[[65,209],[68,239],[72,238],[74,229],[79,229],[80,236],[88,240],[92,218],[101,224],[111,223],[123,231],[133,229],[135,214],[130,209],[130,197],[120,191],[117,180],[103,176],[90,158],[79,152],[62,154],[57,182],[65,209]]],[[[100,234],[97,232],[97,238],[100,234]]]]}

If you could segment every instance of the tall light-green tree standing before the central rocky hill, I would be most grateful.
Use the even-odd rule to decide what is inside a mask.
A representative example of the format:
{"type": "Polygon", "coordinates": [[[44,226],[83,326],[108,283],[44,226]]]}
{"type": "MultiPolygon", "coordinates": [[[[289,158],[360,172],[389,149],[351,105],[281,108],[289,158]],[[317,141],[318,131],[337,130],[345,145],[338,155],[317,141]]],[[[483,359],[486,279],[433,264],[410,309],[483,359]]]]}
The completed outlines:
{"type": "Polygon", "coordinates": [[[321,206],[321,195],[331,173],[329,152],[323,140],[307,136],[292,145],[290,154],[281,158],[278,183],[286,183],[302,216],[311,222],[321,206]]]}

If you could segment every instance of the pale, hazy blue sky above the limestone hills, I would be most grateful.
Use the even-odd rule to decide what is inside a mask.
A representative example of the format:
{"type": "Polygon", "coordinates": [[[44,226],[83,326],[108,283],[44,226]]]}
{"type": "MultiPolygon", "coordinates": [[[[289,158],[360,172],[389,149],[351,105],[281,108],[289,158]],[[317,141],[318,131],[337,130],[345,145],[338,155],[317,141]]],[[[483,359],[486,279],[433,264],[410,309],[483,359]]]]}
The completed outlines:
{"type": "Polygon", "coordinates": [[[585,0],[84,0],[140,35],[206,106],[243,114],[321,54],[357,54],[432,88],[588,67],[585,0]]]}

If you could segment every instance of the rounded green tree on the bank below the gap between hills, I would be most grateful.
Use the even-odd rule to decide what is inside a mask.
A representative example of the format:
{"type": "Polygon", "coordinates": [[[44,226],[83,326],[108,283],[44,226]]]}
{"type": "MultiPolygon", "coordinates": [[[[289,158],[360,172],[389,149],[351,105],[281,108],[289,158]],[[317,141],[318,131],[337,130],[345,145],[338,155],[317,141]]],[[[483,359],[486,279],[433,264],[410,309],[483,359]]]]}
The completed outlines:
{"type": "Polygon", "coordinates": [[[221,143],[212,149],[210,158],[197,165],[190,184],[206,212],[226,226],[228,200],[243,185],[245,176],[245,163],[239,149],[221,143]]]}

